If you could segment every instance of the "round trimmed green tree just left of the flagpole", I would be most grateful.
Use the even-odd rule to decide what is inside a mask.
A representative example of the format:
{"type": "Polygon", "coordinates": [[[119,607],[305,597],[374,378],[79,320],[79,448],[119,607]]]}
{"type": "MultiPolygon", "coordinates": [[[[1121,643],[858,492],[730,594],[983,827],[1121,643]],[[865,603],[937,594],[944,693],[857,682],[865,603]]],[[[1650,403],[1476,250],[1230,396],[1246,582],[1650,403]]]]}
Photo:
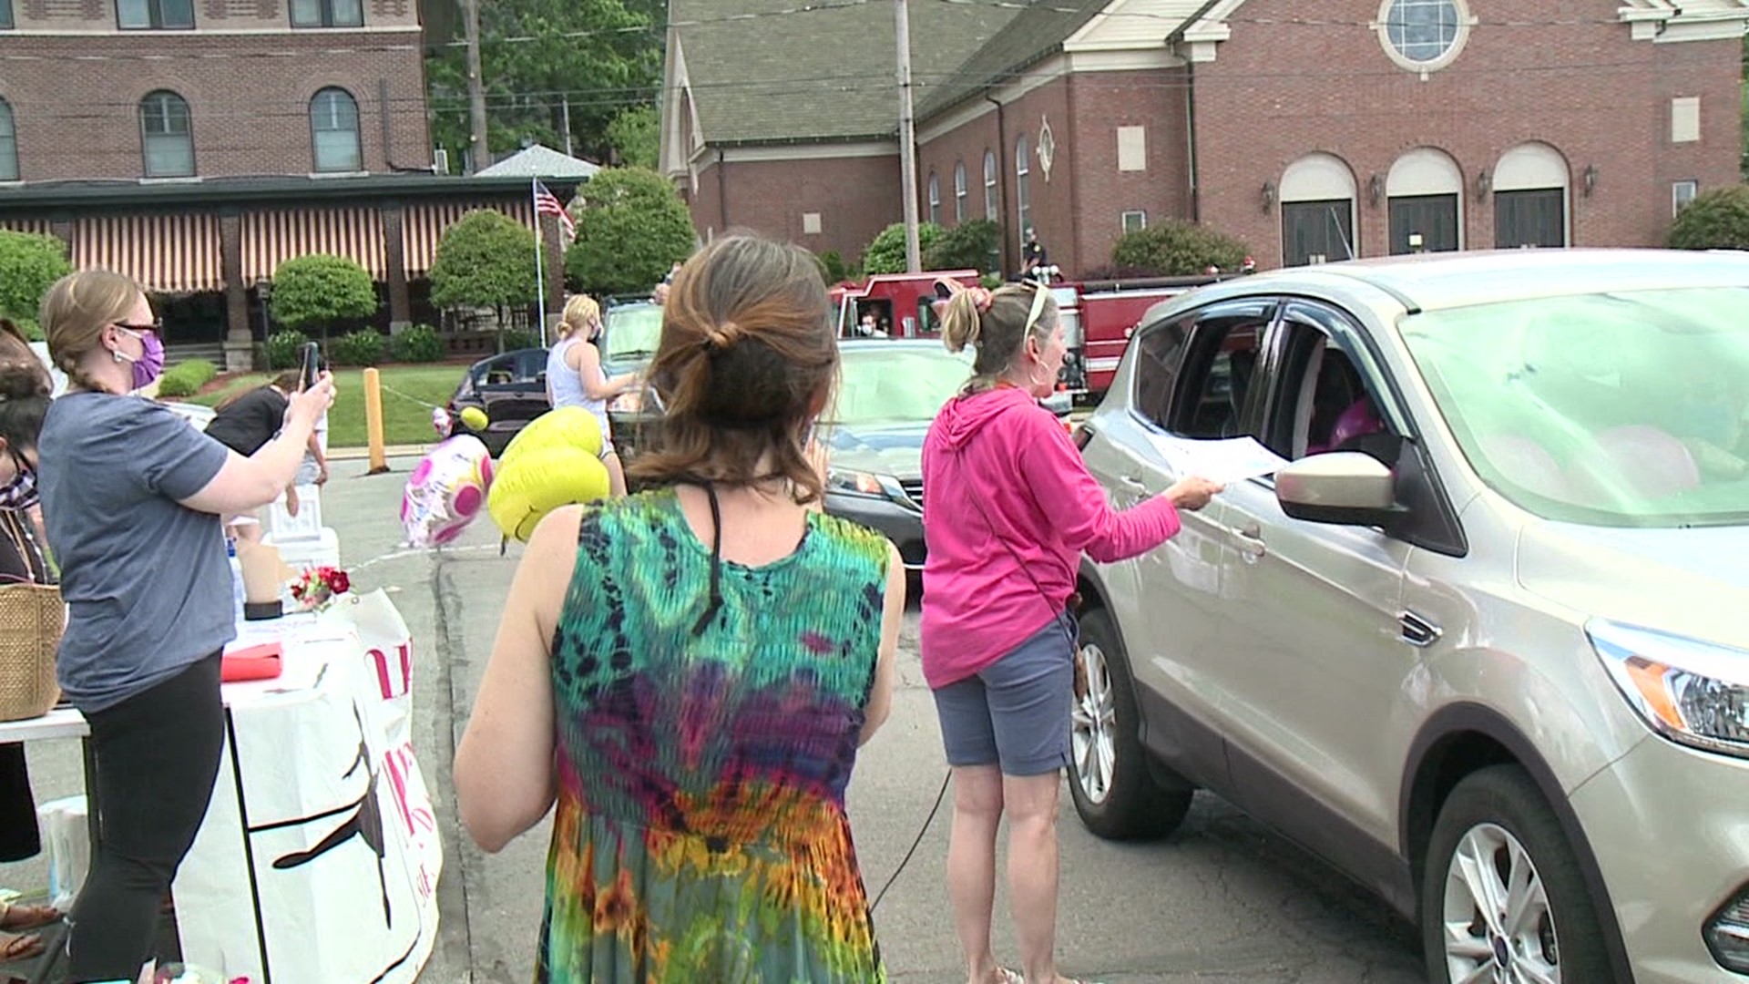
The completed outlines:
{"type": "Polygon", "coordinates": [[[504,212],[469,212],[437,242],[430,280],[439,308],[493,308],[502,348],[504,308],[535,298],[535,233],[504,212]]]}

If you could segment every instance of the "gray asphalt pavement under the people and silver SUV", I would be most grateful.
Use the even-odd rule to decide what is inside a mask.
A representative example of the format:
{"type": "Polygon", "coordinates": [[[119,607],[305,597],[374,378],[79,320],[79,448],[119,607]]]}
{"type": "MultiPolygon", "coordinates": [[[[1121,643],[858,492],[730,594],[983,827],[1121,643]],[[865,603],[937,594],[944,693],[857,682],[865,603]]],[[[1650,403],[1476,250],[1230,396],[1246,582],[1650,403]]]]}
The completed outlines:
{"type": "MultiPolygon", "coordinates": [[[[481,518],[458,543],[408,550],[397,522],[416,459],[390,459],[366,476],[362,459],[336,460],[324,518],[339,534],[359,590],[385,588],[415,634],[415,748],[439,814],[444,872],[441,938],[422,982],[511,984],[533,975],[549,825],[498,854],[467,840],[455,818],[449,763],[491,650],[519,555],[498,553],[481,518]]],[[[75,742],[30,748],[40,800],[77,793],[75,742]]],[[[916,657],[916,609],[901,644],[901,686],[887,727],[862,751],[850,784],[850,821],[871,896],[899,867],[941,790],[944,765],[916,657]]],[[[874,912],[895,982],[964,980],[944,884],[950,802],[923,830],[911,861],[874,912]]],[[[1060,816],[1063,973],[1109,984],[1413,984],[1424,980],[1415,931],[1383,903],[1212,795],[1184,826],[1147,844],[1091,837],[1067,788],[1060,816]]],[[[0,884],[31,888],[42,863],[0,867],[0,884]]],[[[997,956],[1018,959],[999,891],[997,956]]],[[[320,945],[320,940],[311,940],[320,945]]]]}

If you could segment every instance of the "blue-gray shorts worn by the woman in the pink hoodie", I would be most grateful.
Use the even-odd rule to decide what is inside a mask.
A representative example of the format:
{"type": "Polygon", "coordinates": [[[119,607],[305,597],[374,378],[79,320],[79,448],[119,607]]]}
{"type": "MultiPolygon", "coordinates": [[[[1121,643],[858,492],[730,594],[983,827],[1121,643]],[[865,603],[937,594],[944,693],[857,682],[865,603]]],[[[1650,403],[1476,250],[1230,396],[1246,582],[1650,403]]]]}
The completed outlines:
{"type": "Polygon", "coordinates": [[[1069,765],[1076,618],[1069,613],[965,679],[936,690],[948,765],[1044,776],[1069,765]]]}

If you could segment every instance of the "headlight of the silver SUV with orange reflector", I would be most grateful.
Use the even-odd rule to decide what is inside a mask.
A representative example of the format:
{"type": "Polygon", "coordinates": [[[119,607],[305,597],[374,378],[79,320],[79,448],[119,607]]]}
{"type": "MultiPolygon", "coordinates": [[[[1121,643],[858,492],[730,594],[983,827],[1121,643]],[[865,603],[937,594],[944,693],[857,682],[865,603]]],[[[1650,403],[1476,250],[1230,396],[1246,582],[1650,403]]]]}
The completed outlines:
{"type": "Polygon", "coordinates": [[[1749,651],[1593,618],[1585,634],[1653,730],[1749,758],[1749,651]]]}

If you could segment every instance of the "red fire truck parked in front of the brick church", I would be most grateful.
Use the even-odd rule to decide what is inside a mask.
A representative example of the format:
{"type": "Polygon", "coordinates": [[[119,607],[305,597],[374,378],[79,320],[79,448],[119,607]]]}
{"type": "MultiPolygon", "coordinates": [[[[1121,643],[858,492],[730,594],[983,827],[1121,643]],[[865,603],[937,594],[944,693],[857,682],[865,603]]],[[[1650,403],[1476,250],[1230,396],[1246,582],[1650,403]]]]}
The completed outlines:
{"type": "MultiPolygon", "coordinates": [[[[978,284],[976,270],[937,270],[923,273],[880,273],[868,280],[833,287],[833,308],[840,338],[932,338],[941,334],[941,320],[930,306],[936,280],[978,284]]],[[[1111,387],[1130,334],[1140,326],[1147,308],[1193,287],[1226,278],[1156,277],[1146,280],[1090,280],[1051,284],[1051,298],[1062,313],[1063,359],[1062,383],[1076,396],[1097,401],[1111,387]]]]}

